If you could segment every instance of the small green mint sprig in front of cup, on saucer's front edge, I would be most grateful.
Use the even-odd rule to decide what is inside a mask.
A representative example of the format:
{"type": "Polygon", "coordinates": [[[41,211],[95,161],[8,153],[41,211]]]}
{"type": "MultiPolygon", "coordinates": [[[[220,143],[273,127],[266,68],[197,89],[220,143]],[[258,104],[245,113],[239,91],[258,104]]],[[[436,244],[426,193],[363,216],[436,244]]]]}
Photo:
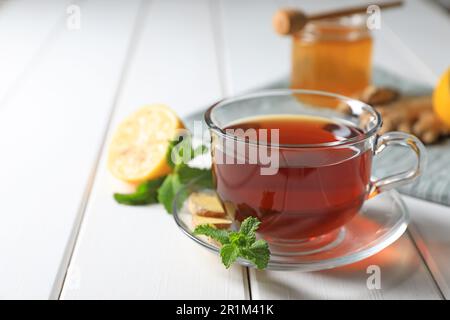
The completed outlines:
{"type": "Polygon", "coordinates": [[[220,257],[228,269],[238,258],[252,262],[258,269],[265,269],[270,259],[269,245],[264,240],[256,240],[256,230],[261,222],[255,217],[246,218],[238,232],[219,230],[210,225],[200,225],[195,235],[208,236],[220,244],[220,257]]]}

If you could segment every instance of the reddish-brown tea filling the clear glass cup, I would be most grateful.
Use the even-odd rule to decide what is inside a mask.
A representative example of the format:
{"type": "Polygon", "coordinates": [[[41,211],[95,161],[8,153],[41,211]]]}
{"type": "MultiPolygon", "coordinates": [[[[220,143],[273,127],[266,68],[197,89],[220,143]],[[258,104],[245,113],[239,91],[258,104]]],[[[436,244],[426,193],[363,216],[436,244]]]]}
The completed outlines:
{"type": "MultiPolygon", "coordinates": [[[[227,129],[279,129],[280,145],[336,142],[363,134],[347,123],[306,116],[248,118],[227,129]]],[[[367,195],[371,150],[355,145],[280,146],[274,175],[262,175],[259,163],[218,161],[236,155],[224,150],[215,148],[213,154],[217,193],[238,221],[258,217],[259,233],[268,240],[326,234],[349,221],[367,195]]]]}

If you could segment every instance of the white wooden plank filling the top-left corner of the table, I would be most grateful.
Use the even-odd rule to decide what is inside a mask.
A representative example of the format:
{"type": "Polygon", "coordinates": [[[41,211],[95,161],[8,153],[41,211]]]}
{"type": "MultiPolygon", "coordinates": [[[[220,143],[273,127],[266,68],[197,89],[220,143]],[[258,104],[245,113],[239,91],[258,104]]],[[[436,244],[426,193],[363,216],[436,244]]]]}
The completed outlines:
{"type": "Polygon", "coordinates": [[[0,103],[26,76],[53,40],[69,0],[3,1],[0,4],[0,103]]]}

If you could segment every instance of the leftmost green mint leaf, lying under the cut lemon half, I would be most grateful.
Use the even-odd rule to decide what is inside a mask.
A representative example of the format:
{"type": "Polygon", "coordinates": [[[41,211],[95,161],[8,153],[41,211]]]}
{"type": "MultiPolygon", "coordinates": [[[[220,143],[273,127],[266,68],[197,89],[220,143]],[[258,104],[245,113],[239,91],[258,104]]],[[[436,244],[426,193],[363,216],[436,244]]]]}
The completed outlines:
{"type": "Polygon", "coordinates": [[[141,183],[134,193],[115,193],[114,199],[120,204],[141,206],[157,203],[157,190],[163,183],[164,177],[141,183]]]}

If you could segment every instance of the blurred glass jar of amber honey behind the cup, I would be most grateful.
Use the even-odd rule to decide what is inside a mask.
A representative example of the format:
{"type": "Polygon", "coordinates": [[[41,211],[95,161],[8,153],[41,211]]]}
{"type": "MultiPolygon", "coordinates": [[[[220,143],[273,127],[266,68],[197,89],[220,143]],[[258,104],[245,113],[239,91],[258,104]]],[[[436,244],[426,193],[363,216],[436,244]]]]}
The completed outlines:
{"type": "MultiPolygon", "coordinates": [[[[293,36],[291,87],[354,96],[371,80],[365,15],[309,22],[293,36]]],[[[318,103],[318,101],[314,101],[318,103]]]]}

